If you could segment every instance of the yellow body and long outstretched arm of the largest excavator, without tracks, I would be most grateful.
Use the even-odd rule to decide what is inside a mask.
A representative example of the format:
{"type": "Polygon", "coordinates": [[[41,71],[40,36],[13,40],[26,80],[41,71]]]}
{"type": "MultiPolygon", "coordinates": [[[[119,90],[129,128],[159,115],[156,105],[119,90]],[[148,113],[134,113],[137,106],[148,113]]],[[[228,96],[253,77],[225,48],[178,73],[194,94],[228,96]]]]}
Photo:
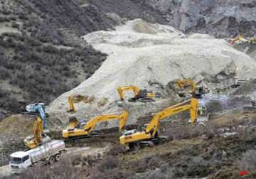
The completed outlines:
{"type": "Polygon", "coordinates": [[[194,124],[198,116],[198,99],[192,98],[187,102],[190,102],[190,104],[185,104],[186,102],[182,102],[180,104],[176,104],[172,107],[164,109],[159,113],[154,114],[153,118],[146,126],[146,129],[144,131],[125,131],[123,135],[120,136],[120,143],[137,143],[139,141],[149,141],[151,139],[155,139],[157,136],[157,132],[159,131],[160,120],[165,119],[168,116],[185,112],[188,110],[190,111],[191,114],[191,124],[194,124]]]}

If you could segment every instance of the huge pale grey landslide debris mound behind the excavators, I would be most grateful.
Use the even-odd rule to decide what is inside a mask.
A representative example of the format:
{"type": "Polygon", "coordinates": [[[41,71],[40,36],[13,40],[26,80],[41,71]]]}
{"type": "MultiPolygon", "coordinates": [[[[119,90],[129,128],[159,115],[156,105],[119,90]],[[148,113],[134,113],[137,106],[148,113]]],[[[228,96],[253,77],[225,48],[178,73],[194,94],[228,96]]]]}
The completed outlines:
{"type": "MultiPolygon", "coordinates": [[[[58,114],[68,110],[69,94],[95,97],[90,104],[78,104],[79,117],[90,118],[127,109],[130,112],[128,124],[134,124],[139,117],[176,102],[175,94],[168,93],[169,82],[173,80],[191,78],[215,88],[233,85],[235,75],[248,80],[256,75],[255,60],[233,49],[225,40],[202,34],[187,36],[171,26],[142,19],[128,21],[115,31],[97,31],[82,38],[107,53],[107,60],[92,77],[50,104],[48,112],[52,121],[58,118],[63,124],[68,122],[58,114]],[[119,85],[137,85],[159,92],[162,98],[152,103],[119,104],[119,85]],[[102,97],[107,103],[99,107],[97,102],[102,97]]],[[[110,124],[107,126],[112,127],[113,123],[110,124]]]]}

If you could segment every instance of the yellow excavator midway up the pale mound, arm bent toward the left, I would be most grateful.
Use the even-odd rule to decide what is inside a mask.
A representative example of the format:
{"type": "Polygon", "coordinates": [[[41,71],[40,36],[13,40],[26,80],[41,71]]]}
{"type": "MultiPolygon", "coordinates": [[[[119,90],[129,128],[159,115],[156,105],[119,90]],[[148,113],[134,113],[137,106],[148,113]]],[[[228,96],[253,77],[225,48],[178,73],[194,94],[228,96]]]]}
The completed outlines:
{"type": "Polygon", "coordinates": [[[134,94],[134,97],[128,99],[129,102],[152,102],[154,101],[154,97],[156,97],[154,92],[149,92],[146,89],[139,89],[137,86],[119,86],[117,87],[117,92],[121,101],[124,101],[124,91],[132,91],[134,94]]]}

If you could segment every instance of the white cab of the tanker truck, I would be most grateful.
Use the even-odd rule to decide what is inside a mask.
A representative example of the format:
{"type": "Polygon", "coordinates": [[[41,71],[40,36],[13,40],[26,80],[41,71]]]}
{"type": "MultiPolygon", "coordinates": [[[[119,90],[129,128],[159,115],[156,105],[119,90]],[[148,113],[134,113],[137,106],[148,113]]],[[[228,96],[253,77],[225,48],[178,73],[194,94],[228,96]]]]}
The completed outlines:
{"type": "Polygon", "coordinates": [[[11,173],[21,173],[31,165],[31,158],[27,152],[18,151],[10,156],[11,173]]]}

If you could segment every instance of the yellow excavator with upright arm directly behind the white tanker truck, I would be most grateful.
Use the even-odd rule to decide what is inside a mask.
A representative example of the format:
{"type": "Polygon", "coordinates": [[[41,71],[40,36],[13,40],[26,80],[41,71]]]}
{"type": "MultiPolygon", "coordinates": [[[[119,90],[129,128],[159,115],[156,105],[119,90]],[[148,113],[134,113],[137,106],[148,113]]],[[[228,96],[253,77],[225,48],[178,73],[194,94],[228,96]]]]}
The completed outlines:
{"type": "Polygon", "coordinates": [[[50,140],[50,136],[43,130],[41,117],[37,116],[33,126],[33,136],[26,137],[26,139],[23,140],[24,145],[28,148],[36,148],[42,143],[48,143],[50,140]]]}

